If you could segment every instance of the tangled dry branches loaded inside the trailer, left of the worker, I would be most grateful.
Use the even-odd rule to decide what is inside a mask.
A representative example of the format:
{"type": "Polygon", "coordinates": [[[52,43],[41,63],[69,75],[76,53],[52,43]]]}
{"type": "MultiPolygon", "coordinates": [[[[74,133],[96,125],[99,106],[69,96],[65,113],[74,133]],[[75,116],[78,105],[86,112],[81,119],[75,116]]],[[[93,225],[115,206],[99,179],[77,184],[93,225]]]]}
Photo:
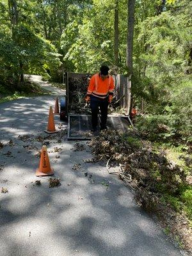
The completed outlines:
{"type": "Polygon", "coordinates": [[[86,113],[84,98],[86,97],[89,77],[87,75],[78,79],[73,77],[68,79],[68,108],[75,113],[86,113]]]}

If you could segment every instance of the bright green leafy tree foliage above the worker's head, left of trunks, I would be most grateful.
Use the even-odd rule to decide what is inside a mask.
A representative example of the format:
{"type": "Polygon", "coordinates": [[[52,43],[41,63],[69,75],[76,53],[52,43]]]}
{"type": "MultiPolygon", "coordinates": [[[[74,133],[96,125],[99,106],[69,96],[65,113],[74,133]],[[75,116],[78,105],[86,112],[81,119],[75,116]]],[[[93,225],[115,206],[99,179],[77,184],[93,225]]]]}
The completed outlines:
{"type": "MultiPolygon", "coordinates": [[[[67,25],[61,36],[61,49],[67,68],[73,68],[75,72],[93,73],[104,62],[113,66],[114,4],[109,0],[94,0],[92,8],[88,6],[84,9],[81,22],[76,17],[67,25]]],[[[125,55],[123,58],[125,60],[125,55]]]]}

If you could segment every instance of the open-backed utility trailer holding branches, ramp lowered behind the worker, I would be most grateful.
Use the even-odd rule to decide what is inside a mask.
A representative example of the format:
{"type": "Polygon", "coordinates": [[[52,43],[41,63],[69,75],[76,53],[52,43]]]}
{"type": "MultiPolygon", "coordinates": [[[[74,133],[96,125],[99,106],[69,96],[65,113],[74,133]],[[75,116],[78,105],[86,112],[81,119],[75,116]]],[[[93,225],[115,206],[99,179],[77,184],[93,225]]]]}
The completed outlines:
{"type": "MultiPolygon", "coordinates": [[[[86,106],[84,101],[89,79],[92,75],[70,72],[65,74],[66,96],[60,100],[60,119],[68,120],[68,140],[90,140],[93,136],[91,132],[91,109],[86,106]]],[[[127,98],[125,97],[126,90],[128,90],[126,89],[127,86],[122,76],[113,76],[113,79],[115,81],[116,101],[124,107],[127,98]]],[[[98,118],[100,121],[100,115],[98,118]]],[[[109,129],[126,132],[130,125],[129,115],[118,115],[117,113],[108,115],[107,126],[109,129]]]]}

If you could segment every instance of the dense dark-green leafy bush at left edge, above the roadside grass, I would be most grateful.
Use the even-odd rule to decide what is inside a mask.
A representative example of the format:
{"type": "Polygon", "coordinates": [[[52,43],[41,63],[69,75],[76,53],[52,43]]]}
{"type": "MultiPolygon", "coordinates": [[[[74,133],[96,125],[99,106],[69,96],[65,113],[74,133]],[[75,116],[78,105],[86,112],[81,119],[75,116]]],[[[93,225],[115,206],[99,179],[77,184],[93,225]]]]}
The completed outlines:
{"type": "Polygon", "coordinates": [[[5,32],[0,33],[0,79],[3,83],[8,79],[18,83],[20,74],[45,74],[46,69],[60,65],[60,54],[54,45],[28,26],[18,25],[12,38],[5,32]]]}

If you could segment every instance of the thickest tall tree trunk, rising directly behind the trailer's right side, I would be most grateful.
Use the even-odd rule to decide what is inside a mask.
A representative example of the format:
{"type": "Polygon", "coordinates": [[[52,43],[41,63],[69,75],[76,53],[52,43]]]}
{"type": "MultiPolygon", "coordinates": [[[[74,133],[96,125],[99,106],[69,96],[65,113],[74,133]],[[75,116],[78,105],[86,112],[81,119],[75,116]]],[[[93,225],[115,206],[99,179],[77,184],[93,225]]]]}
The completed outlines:
{"type": "Polygon", "coordinates": [[[131,76],[132,70],[132,50],[133,50],[133,33],[134,33],[134,5],[135,0],[128,0],[128,23],[127,23],[127,115],[131,112],[131,76]]]}

